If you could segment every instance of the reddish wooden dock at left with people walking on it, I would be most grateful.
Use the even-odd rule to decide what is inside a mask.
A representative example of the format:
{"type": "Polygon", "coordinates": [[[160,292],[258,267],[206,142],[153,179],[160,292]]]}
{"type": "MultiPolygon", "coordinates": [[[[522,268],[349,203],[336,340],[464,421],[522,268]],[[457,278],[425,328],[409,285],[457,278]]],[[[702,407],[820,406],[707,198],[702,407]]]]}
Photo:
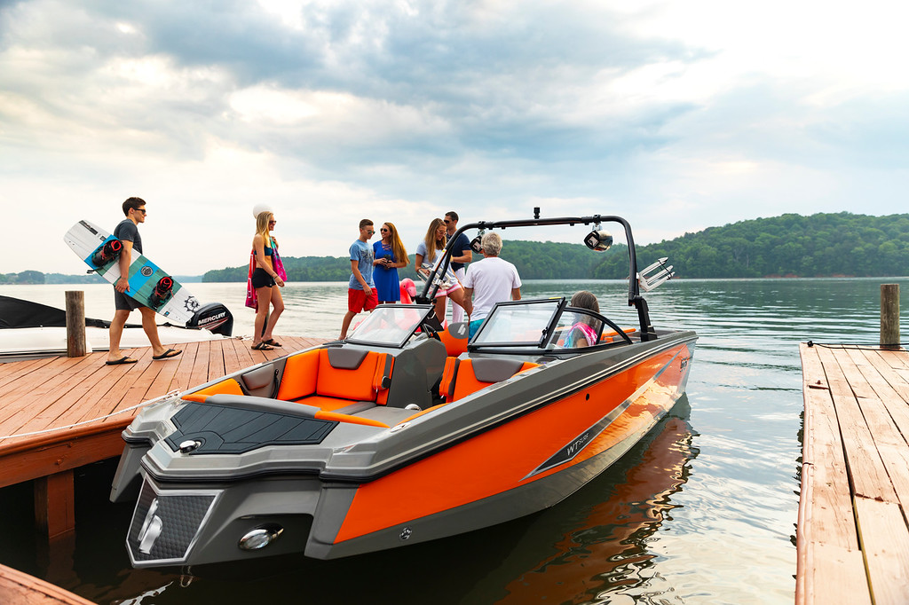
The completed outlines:
{"type": "Polygon", "coordinates": [[[119,456],[121,432],[143,402],[326,342],[276,336],[283,347],[253,351],[251,341],[185,342],[183,353],[106,365],[107,352],[0,363],[0,488],[35,481],[35,521],[48,538],[75,529],[75,469],[119,456]]]}

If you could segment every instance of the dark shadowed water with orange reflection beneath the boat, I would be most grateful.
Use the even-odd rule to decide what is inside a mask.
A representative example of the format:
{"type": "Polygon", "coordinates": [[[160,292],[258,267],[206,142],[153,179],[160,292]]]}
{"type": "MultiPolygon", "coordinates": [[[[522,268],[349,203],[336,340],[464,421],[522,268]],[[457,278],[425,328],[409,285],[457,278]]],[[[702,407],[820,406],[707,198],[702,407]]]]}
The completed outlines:
{"type": "Polygon", "coordinates": [[[697,455],[683,397],[644,440],[556,506],[440,541],[341,560],[302,555],[134,570],[131,504],[107,501],[115,461],[76,477],[75,536],[35,543],[30,486],[0,490],[0,562],[99,604],[682,603],[652,548],[697,455]]]}

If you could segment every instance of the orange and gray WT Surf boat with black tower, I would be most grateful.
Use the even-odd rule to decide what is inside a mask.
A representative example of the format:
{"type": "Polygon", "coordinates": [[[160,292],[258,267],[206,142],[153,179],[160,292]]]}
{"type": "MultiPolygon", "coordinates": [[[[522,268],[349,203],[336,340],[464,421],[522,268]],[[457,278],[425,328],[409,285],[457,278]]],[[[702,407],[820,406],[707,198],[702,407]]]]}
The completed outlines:
{"type": "Polygon", "coordinates": [[[602,223],[624,229],[634,328],[532,299],[496,304],[468,342],[430,304],[446,250],[415,304],[380,305],[345,341],[145,407],[111,492],[136,499],[135,567],[406,547],[543,510],[607,469],[684,393],[697,335],[654,328],[641,294],[672,267],[639,272],[618,216],[537,211],[459,233],[593,225],[584,243],[604,251],[602,223]],[[578,322],[593,345],[566,338],[578,322]]]}

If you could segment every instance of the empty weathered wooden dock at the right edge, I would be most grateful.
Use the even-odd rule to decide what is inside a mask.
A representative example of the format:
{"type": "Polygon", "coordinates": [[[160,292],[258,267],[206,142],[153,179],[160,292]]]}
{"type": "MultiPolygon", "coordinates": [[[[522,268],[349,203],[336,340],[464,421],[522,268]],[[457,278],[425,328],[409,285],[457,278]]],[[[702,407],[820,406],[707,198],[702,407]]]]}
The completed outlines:
{"type": "Polygon", "coordinates": [[[909,352],[802,343],[796,605],[909,603],[909,352]]]}

